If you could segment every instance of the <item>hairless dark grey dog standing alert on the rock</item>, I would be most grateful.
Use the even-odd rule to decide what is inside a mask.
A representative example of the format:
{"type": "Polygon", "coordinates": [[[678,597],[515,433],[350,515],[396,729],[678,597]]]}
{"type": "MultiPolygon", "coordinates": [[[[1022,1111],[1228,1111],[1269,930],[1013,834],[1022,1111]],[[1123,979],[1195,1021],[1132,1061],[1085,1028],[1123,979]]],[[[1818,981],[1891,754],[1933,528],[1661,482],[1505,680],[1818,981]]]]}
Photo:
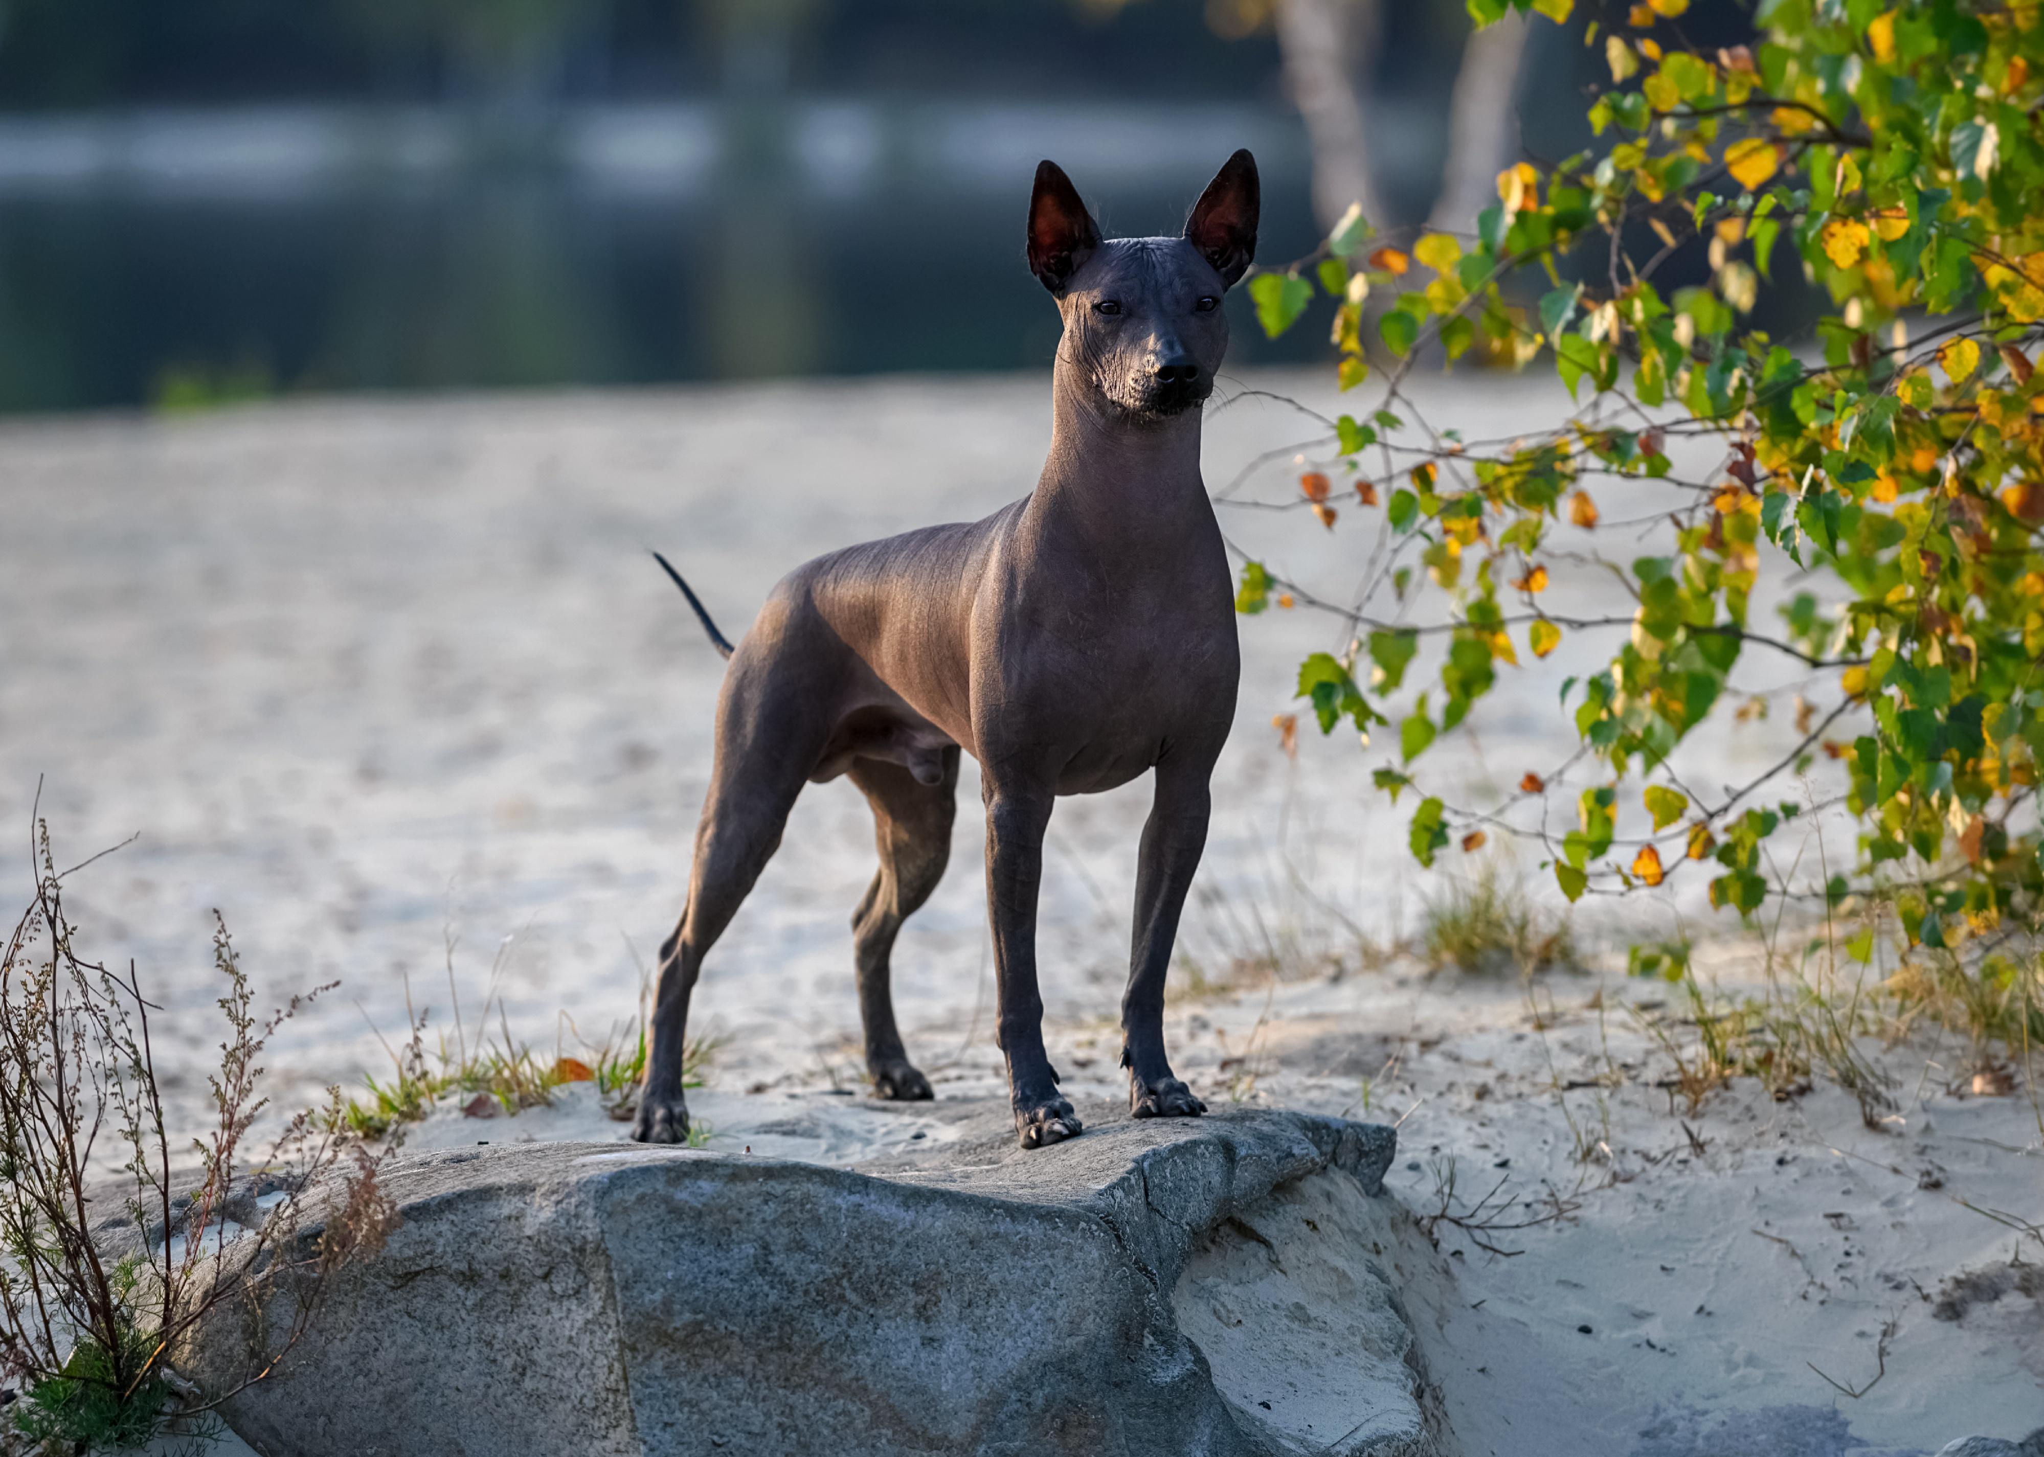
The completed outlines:
{"type": "MultiPolygon", "coordinates": [[[[1136,873],[1122,1067],[1136,1118],[1206,1112],[1163,1050],[1163,981],[1206,844],[1208,777],[1235,717],[1228,560],[1200,480],[1200,407],[1228,345],[1220,296],[1257,243],[1257,163],[1237,151],[1183,237],[1104,241],[1071,180],[1036,168],[1028,264],[1065,337],[1036,488],[789,572],[732,648],[689,903],[660,946],[652,1054],[632,1136],[689,1132],[681,1048],[703,956],[781,844],[803,783],[850,774],[881,868],[852,915],[867,1069],[881,1097],[930,1097],[895,1028],[887,956],[950,854],[959,750],[979,760],[987,911],[1024,1148],[1079,1132],[1042,1048],[1036,891],[1057,795],[1157,770],[1136,873]]],[[[666,562],[660,562],[666,566],[666,562]]]]}

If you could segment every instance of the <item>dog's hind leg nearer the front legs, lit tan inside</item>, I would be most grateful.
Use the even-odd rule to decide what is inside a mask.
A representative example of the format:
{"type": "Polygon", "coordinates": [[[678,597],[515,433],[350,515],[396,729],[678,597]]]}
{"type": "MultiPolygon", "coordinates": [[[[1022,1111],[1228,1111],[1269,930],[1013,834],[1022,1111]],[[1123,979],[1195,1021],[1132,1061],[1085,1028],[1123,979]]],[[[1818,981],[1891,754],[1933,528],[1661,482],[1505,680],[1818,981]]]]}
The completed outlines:
{"type": "Polygon", "coordinates": [[[957,811],[959,750],[942,750],[944,777],[920,783],[901,764],[854,760],[850,779],[873,805],[873,838],[881,868],[852,911],[852,946],[858,967],[858,1016],[867,1028],[867,1073],[879,1097],[930,1097],[930,1079],[916,1071],[901,1046],[893,1018],[889,956],[901,922],[930,899],[950,860],[950,821],[957,811]]]}

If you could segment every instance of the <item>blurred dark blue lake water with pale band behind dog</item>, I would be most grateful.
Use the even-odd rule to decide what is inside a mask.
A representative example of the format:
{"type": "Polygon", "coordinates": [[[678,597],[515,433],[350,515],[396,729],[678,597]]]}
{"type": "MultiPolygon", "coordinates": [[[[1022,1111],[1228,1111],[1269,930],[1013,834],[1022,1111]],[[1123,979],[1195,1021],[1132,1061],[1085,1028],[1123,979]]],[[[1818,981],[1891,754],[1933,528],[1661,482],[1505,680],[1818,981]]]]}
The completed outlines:
{"type": "MultiPolygon", "coordinates": [[[[1040,368],[1036,159],[1155,233],[1241,145],[1265,257],[1308,251],[1304,141],[1263,106],[4,119],[0,409],[1040,368]]],[[[1235,358],[1322,351],[1245,327],[1235,358]]]]}

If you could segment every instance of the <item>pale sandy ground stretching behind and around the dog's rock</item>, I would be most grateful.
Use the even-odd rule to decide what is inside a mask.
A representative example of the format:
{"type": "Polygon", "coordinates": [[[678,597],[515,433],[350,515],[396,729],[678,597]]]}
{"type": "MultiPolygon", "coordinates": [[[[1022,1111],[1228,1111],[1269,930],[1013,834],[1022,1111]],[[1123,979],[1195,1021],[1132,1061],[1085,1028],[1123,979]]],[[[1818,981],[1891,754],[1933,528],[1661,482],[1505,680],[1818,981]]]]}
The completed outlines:
{"type": "MultiPolygon", "coordinates": [[[[1318,380],[1241,384],[1329,403],[1318,380]]],[[[1531,427],[1551,388],[1427,382],[1419,403],[1474,439],[1531,427]]],[[[1312,433],[1245,394],[1210,423],[1210,484],[1312,433]]],[[[1036,378],[8,425],[0,826],[18,850],[0,856],[0,893],[25,895],[39,777],[59,858],[139,834],[76,879],[74,909],[86,944],[133,956],[164,1003],[186,1116],[217,1040],[213,907],[266,1001],[343,983],[276,1040],[286,1093],[384,1065],[370,1028],[401,1036],[407,977],[429,1026],[452,1030],[448,962],[468,1038],[489,999],[493,1030],[587,1054],[634,1014],[679,909],[722,668],[644,548],[675,556],[736,636],[820,550],[1020,495],[1047,435],[1036,378]]],[[[1284,458],[1259,480],[1292,499],[1284,458]]],[[[1598,546],[1647,550],[1631,542],[1656,501],[1602,505],[1598,546]]],[[[1296,511],[1228,511],[1224,529],[1341,597],[1376,521],[1345,511],[1329,533],[1296,511]]],[[[1611,605],[1590,574],[1558,576],[1558,595],[1611,605]]],[[[1741,1085],[1686,1114],[1654,1087],[1668,1069],[1627,1012],[1658,985],[1359,969],[1359,942],[1408,934],[1439,881],[1406,856],[1404,807],[1367,787],[1382,746],[1308,727],[1296,758],[1280,748],[1298,656],[1341,638],[1306,611],[1243,625],[1171,1034],[1210,1099],[1402,1120],[1392,1187],[1416,1214],[1449,1171],[1455,1212],[1504,1179],[1555,1214],[1484,1236],[1513,1255],[1437,1224],[1439,1251],[1398,1257],[1466,1449],[1899,1457],[2044,1424],[2044,1283],[2009,1263],[2044,1249],[1968,1208],[2036,1220],[2044,1136],[2022,1097],[1952,1091],[1952,1048],[1887,1054],[1899,1108],[1878,1132],[1825,1087],[1772,1103],[1741,1085]],[[1241,979],[1265,960],[1290,979],[1241,979]],[[1811,1367],[1854,1392],[1885,1375],[1854,1398],[1811,1367]]],[[[1513,674],[1480,738],[1429,754],[1429,787],[1480,801],[1560,764],[1564,658],[1513,674]]],[[[1770,672],[1756,664],[1750,687],[1791,683],[1770,672]]],[[[1713,732],[1686,772],[1744,781],[1793,742],[1786,717],[1713,732]]],[[[997,1085],[975,795],[967,774],[950,875],[895,954],[910,1050],[940,1095],[997,1085]]],[[[1132,785],[1063,801],[1051,832],[1053,1054],[1102,1091],[1143,813],[1132,785]]],[[[871,866],[856,791],[809,791],[697,993],[697,1026],[719,1038],[697,1097],[711,1146],[842,1159],[914,1134],[856,1095],[846,918],[871,866]],[[769,1126],[789,1142],[760,1138],[769,1126]]],[[[1694,913],[1692,891],[1582,911],[1578,938],[1662,932],[1682,905],[1694,913]]],[[[1752,975],[1729,942],[1721,960],[1752,975]]],[[[621,1132],[570,1093],[519,1120],[448,1112],[417,1136],[621,1132]]]]}

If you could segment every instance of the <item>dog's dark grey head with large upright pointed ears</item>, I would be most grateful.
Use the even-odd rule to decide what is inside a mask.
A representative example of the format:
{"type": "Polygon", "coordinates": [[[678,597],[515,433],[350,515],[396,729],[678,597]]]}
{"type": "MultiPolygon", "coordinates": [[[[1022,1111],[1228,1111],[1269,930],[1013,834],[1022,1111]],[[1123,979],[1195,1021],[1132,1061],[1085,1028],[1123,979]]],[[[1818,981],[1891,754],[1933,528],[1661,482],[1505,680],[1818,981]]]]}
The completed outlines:
{"type": "Polygon", "coordinates": [[[1114,409],[1161,419],[1214,390],[1228,349],[1220,296],[1257,251],[1257,161],[1237,151],[1181,237],[1106,241],[1055,161],[1038,163],[1028,266],[1065,315],[1061,356],[1114,409]]]}

